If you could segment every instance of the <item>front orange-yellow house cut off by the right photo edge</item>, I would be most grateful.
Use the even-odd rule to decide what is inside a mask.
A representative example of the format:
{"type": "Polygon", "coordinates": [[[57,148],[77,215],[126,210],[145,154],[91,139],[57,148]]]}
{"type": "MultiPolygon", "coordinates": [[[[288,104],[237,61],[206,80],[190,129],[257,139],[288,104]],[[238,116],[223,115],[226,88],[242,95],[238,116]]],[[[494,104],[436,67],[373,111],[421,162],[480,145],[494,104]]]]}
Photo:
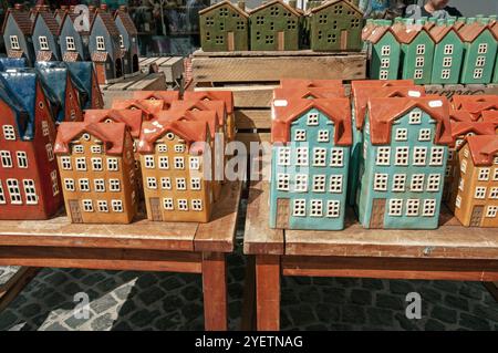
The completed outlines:
{"type": "Polygon", "coordinates": [[[498,135],[468,136],[458,157],[455,217],[465,227],[498,227],[498,135]]]}

